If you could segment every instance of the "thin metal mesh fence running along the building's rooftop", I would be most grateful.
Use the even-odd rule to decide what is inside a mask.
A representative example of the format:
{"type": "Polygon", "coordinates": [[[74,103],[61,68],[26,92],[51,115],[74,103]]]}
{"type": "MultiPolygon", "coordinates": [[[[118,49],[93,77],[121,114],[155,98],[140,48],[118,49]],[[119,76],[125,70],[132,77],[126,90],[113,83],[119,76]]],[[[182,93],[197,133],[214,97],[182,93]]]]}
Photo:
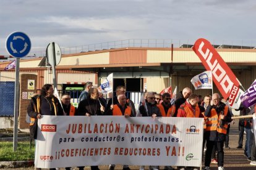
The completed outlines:
{"type": "MultiPolygon", "coordinates": [[[[208,39],[215,48],[228,49],[255,49],[256,39],[216,40],[208,39]]],[[[63,47],[62,54],[75,54],[80,52],[100,51],[104,49],[117,49],[123,47],[180,47],[191,48],[196,39],[124,39],[120,41],[108,41],[83,46],[63,47]]],[[[45,49],[30,52],[31,56],[45,56],[45,49]]]]}

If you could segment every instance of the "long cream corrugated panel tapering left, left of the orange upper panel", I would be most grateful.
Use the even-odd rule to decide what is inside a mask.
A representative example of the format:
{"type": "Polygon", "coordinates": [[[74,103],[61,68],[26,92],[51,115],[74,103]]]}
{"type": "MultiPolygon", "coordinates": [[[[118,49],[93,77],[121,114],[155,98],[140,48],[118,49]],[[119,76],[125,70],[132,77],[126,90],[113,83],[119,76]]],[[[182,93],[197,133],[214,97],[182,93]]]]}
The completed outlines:
{"type": "Polygon", "coordinates": [[[59,65],[96,65],[108,64],[109,52],[97,54],[77,55],[72,57],[62,57],[59,65]]]}

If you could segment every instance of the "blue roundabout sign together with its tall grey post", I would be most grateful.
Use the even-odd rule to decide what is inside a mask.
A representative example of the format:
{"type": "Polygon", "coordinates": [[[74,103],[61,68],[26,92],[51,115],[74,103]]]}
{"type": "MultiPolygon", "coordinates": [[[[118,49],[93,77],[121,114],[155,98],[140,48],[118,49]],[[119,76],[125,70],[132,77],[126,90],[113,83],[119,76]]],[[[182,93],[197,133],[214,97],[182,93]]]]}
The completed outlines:
{"type": "Polygon", "coordinates": [[[17,150],[18,140],[18,115],[19,115],[19,75],[20,75],[20,58],[25,57],[31,49],[30,38],[22,32],[9,34],[6,39],[7,52],[16,57],[15,67],[15,98],[14,98],[14,143],[13,151],[17,150]]]}

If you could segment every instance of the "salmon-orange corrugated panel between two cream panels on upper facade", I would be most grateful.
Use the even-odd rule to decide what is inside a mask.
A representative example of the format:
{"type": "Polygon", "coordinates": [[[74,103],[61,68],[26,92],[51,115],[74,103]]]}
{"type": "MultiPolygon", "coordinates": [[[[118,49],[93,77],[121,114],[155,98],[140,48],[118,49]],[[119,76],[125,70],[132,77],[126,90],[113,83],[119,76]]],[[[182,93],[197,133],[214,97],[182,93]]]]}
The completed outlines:
{"type": "Polygon", "coordinates": [[[110,52],[109,64],[147,63],[147,50],[128,49],[110,52]]]}

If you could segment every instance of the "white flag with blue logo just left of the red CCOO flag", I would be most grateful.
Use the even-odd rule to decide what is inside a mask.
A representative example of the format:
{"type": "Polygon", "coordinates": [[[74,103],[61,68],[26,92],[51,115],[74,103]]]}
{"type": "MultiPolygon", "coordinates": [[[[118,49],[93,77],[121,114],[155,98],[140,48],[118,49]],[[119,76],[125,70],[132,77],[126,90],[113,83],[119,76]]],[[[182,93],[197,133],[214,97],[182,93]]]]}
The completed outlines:
{"type": "Polygon", "coordinates": [[[194,76],[191,79],[191,83],[195,87],[195,89],[212,89],[213,88],[213,79],[211,75],[211,71],[204,71],[199,75],[194,76]]]}

